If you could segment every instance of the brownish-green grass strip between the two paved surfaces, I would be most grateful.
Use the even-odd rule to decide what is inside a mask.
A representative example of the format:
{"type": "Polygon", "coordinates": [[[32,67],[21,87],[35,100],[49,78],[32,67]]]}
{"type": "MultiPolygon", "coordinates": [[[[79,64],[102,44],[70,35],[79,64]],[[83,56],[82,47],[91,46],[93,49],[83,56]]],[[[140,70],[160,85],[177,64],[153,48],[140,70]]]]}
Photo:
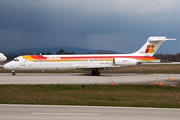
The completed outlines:
{"type": "Polygon", "coordinates": [[[180,108],[180,87],[157,85],[0,85],[0,104],[180,108]]]}

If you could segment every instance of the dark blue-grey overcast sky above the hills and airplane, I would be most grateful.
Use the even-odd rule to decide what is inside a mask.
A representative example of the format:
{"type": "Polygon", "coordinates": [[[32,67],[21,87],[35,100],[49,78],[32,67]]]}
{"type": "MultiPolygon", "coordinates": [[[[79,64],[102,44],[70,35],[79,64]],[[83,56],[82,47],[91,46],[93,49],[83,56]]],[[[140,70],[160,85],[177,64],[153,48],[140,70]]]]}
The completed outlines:
{"type": "Polygon", "coordinates": [[[157,53],[180,52],[179,0],[1,0],[0,51],[80,47],[123,53],[167,36],[157,53]]]}

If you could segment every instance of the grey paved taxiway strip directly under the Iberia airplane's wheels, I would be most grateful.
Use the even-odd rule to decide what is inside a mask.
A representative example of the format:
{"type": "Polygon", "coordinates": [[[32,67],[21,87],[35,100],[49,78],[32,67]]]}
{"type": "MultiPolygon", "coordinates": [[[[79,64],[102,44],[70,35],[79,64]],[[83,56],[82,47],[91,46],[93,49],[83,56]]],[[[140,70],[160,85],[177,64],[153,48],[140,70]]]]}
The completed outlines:
{"type": "Polygon", "coordinates": [[[180,82],[180,74],[48,74],[48,73],[0,73],[0,84],[157,84],[174,85],[180,82]],[[169,81],[169,78],[172,81],[169,81]]]}

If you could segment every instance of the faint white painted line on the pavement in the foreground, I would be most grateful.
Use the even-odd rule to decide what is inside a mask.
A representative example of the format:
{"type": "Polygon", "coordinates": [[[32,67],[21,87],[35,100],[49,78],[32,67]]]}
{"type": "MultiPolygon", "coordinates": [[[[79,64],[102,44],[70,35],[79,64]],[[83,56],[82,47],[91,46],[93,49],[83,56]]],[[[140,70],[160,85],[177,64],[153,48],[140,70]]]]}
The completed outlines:
{"type": "Polygon", "coordinates": [[[32,113],[33,115],[76,115],[76,116],[98,116],[100,114],[87,113],[32,113]]]}

